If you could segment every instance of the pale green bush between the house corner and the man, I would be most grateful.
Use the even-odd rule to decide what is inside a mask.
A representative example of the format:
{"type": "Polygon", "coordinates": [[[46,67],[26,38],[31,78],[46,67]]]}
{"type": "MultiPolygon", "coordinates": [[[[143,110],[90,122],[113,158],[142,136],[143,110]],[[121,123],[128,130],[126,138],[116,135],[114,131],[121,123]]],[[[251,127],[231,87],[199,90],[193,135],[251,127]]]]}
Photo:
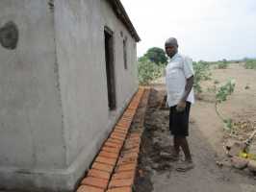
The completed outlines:
{"type": "Polygon", "coordinates": [[[156,63],[143,57],[139,59],[138,71],[140,84],[149,84],[153,80],[162,77],[165,67],[165,64],[157,65],[156,63]]]}

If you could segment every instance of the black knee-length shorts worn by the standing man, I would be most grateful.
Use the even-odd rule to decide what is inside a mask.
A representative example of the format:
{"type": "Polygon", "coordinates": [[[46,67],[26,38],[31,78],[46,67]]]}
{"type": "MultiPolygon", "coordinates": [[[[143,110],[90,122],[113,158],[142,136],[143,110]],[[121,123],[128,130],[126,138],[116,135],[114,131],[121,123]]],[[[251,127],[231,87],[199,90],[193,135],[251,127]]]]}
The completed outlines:
{"type": "Polygon", "coordinates": [[[182,112],[177,111],[176,107],[169,108],[169,131],[174,136],[188,136],[191,103],[187,102],[182,112]]]}

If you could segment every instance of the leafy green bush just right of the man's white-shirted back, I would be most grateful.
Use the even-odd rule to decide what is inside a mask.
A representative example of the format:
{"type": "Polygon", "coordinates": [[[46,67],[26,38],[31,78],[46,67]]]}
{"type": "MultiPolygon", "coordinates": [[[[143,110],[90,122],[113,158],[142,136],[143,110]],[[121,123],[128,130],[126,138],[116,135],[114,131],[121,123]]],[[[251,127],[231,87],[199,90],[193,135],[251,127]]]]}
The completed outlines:
{"type": "Polygon", "coordinates": [[[199,60],[198,62],[192,62],[194,70],[193,88],[196,93],[202,92],[202,87],[200,83],[202,81],[210,80],[210,64],[209,62],[199,60]]]}

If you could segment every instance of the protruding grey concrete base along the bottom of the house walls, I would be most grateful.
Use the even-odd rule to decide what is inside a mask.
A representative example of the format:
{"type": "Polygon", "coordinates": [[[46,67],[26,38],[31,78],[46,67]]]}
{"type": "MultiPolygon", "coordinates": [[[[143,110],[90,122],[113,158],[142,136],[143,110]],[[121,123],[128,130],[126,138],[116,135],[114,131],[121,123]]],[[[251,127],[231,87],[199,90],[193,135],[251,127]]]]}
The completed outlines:
{"type": "MultiPolygon", "coordinates": [[[[137,90],[125,102],[125,108],[137,90]]],[[[81,179],[84,178],[93,157],[102,145],[102,141],[110,134],[125,108],[119,108],[115,114],[111,115],[109,129],[104,134],[99,132],[99,139],[94,142],[91,141],[91,145],[86,146],[80,156],[66,170],[26,170],[0,167],[0,192],[73,192],[81,179]]]]}

